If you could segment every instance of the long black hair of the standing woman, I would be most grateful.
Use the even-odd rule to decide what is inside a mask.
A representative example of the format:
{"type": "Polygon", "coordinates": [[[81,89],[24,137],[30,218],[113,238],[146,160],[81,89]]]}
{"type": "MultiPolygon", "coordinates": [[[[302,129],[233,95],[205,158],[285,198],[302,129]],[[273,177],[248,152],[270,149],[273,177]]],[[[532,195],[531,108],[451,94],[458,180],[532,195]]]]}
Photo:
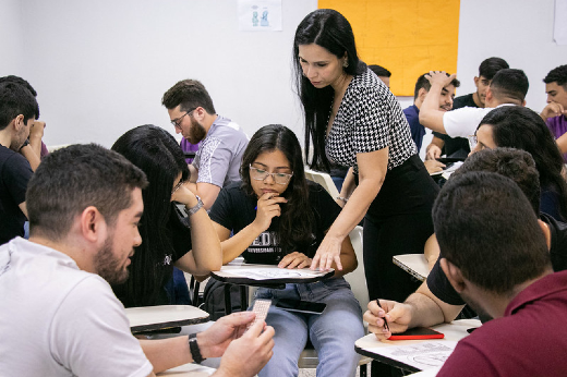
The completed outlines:
{"type": "Polygon", "coordinates": [[[303,105],[305,117],[305,160],[312,169],[329,170],[325,155],[325,135],[335,90],[333,87],[316,88],[303,75],[299,61],[299,46],[315,44],[335,54],[338,59],[347,53],[348,66],[345,73],[357,75],[366,71],[366,64],[359,60],[354,34],[342,14],[331,9],[318,9],[307,14],[299,24],[293,39],[293,68],[297,93],[303,105]],[[309,160],[311,143],[313,157],[309,160]]]}

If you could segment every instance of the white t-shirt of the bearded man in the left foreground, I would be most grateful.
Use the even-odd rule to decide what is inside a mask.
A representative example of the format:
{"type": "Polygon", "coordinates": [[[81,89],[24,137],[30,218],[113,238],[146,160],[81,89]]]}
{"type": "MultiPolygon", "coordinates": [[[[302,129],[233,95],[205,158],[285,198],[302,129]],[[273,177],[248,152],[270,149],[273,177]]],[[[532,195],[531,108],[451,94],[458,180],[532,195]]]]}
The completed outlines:
{"type": "Polygon", "coordinates": [[[147,376],[124,307],[98,275],[16,238],[0,246],[1,376],[147,376]]]}

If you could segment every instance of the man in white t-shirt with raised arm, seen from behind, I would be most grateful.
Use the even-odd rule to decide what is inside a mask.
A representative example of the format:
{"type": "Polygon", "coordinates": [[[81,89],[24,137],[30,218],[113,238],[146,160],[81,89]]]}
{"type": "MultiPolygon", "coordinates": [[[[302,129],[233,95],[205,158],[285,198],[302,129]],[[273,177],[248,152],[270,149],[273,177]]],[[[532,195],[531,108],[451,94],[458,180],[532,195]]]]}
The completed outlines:
{"type": "Polygon", "coordinates": [[[420,123],[450,137],[474,135],[481,120],[494,108],[526,106],[529,82],[521,70],[504,69],[494,75],[486,89],[485,108],[465,107],[453,111],[441,111],[438,104],[443,88],[455,75],[447,77],[445,72],[432,71],[426,77],[430,80],[431,89],[420,109],[420,123]]]}

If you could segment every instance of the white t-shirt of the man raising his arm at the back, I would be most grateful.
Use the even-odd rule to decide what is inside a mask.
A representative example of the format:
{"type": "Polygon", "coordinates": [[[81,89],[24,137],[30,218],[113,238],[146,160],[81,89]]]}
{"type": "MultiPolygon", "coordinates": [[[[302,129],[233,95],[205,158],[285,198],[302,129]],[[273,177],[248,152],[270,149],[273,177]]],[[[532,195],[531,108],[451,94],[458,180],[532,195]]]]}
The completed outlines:
{"type": "Polygon", "coordinates": [[[443,114],[443,126],[450,137],[468,137],[474,135],[484,115],[494,109],[512,104],[499,105],[495,108],[460,108],[443,114]]]}

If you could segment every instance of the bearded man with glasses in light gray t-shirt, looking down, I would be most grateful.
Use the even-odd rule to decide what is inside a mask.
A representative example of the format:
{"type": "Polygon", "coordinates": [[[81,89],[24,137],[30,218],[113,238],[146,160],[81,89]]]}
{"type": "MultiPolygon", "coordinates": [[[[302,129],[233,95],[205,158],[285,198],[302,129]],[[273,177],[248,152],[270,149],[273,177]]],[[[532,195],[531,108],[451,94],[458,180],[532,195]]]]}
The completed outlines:
{"type": "Polygon", "coordinates": [[[196,80],[182,80],[164,94],[176,133],[201,145],[189,166],[189,188],[209,209],[227,184],[240,181],[240,161],[249,138],[240,126],[218,115],[205,86],[196,80]]]}

